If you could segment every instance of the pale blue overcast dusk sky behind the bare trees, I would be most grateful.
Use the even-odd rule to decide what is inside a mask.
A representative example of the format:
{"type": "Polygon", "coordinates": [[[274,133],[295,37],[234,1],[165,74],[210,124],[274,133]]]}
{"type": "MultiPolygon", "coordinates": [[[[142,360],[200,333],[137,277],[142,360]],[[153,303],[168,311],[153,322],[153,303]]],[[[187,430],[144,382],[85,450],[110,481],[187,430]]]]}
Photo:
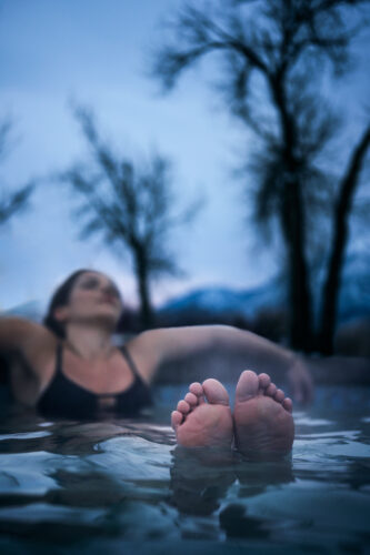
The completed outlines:
{"type": "MultiPolygon", "coordinates": [[[[94,110],[97,123],[122,154],[156,149],[173,163],[179,206],[198,193],[207,206],[173,236],[187,272],[153,287],[157,302],[200,285],[248,287],[279,270],[279,258],[256,248],[246,225],[241,183],[232,176],[250,137],[232,120],[210,83],[207,64],[186,72],[169,94],[148,75],[151,47],[161,43],[161,21],[182,0],[2,0],[0,1],[0,117],[13,121],[1,186],[48,178],[86,158],[71,102],[94,110]]],[[[359,137],[369,109],[369,32],[359,42],[359,67],[336,85],[350,115],[348,140],[359,137]],[[362,49],[362,50],[361,50],[362,49]],[[366,54],[367,52],[367,54],[366,54]]],[[[73,199],[44,179],[30,210],[0,229],[0,309],[44,302],[78,268],[111,275],[124,297],[136,301],[128,256],[119,258],[98,238],[78,239],[73,199]]]]}

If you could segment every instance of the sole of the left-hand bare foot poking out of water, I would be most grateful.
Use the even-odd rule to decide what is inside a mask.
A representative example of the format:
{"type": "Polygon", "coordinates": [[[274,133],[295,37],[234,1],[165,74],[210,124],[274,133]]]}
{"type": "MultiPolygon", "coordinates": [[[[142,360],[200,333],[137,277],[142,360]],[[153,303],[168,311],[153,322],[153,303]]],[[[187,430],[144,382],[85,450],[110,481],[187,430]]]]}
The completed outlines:
{"type": "Polygon", "coordinates": [[[233,423],[228,392],[218,380],[192,383],[172,412],[171,424],[179,445],[230,450],[233,423]]]}

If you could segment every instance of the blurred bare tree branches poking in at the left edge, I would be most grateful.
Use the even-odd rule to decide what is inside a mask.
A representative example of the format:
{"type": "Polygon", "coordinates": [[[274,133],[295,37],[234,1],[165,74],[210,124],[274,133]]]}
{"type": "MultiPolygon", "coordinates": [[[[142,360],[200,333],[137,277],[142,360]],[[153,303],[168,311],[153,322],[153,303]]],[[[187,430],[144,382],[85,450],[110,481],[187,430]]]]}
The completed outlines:
{"type": "MultiPolygon", "coordinates": [[[[9,119],[3,119],[0,122],[0,161],[6,157],[7,147],[9,143],[9,134],[11,131],[11,122],[9,119]]],[[[0,225],[8,222],[17,212],[26,209],[34,189],[33,183],[27,183],[17,191],[9,191],[1,188],[0,195],[0,225]]]]}

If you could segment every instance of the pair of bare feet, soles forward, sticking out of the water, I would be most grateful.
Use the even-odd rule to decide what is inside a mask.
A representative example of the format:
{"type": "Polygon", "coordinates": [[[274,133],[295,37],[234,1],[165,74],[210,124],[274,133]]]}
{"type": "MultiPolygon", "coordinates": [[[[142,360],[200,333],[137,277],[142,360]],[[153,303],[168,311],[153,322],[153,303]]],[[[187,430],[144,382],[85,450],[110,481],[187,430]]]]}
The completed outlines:
{"type": "Polygon", "coordinates": [[[213,379],[192,383],[172,412],[177,441],[184,447],[231,448],[248,457],[289,453],[294,438],[292,402],[268,374],[241,373],[233,415],[229,395],[213,379]]]}

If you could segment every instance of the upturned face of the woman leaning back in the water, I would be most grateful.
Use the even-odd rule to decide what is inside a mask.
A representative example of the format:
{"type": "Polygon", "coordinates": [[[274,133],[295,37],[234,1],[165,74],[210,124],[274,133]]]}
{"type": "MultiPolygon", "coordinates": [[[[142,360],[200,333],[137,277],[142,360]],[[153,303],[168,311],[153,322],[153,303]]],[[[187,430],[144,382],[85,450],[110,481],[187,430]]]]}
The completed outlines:
{"type": "Polygon", "coordinates": [[[66,324],[99,321],[114,327],[121,312],[121,295],[114,283],[99,272],[83,272],[73,284],[68,304],[57,309],[56,317],[66,324]]]}

